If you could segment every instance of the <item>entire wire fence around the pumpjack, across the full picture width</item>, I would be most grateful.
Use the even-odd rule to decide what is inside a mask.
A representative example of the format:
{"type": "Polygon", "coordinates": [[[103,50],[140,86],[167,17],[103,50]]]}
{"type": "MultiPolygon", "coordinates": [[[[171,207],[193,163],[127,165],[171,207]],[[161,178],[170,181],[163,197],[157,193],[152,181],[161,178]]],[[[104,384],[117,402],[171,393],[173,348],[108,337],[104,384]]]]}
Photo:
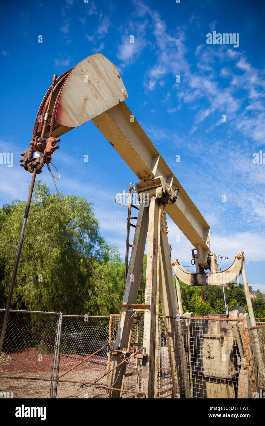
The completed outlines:
{"type": "MultiPolygon", "coordinates": [[[[2,309],[0,323],[3,315],[2,309]]],[[[105,398],[119,318],[11,310],[0,396],[105,398]]],[[[143,314],[134,317],[130,351],[142,347],[143,324],[143,314]]],[[[243,320],[225,316],[160,317],[157,360],[157,398],[255,397],[265,388],[265,324],[245,328],[243,320]]],[[[142,397],[141,378],[142,360],[132,357],[121,397],[142,397]]]]}

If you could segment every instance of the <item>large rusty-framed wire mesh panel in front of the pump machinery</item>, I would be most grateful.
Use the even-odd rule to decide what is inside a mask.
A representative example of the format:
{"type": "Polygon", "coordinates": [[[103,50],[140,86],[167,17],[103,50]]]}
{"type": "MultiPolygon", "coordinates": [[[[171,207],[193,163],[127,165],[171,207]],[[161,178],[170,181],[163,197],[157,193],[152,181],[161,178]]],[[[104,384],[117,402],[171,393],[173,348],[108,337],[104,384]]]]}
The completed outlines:
{"type": "MultiPolygon", "coordinates": [[[[160,339],[168,347],[163,364],[170,365],[175,398],[251,397],[242,321],[177,317],[163,322],[165,337],[160,333],[160,339]]],[[[170,377],[163,386],[162,374],[160,389],[170,397],[170,377]]]]}

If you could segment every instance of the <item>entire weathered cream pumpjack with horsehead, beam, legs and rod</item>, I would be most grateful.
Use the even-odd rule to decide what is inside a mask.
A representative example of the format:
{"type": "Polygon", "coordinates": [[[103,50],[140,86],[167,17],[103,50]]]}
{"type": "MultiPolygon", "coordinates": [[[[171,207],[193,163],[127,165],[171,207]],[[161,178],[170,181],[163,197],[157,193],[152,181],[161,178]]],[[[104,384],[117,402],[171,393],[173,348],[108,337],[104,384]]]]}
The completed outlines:
{"type": "MultiPolygon", "coordinates": [[[[52,85],[37,112],[30,146],[21,154],[23,156],[20,160],[21,166],[32,173],[33,177],[16,265],[19,261],[36,175],[42,172],[45,163],[49,167],[51,156],[59,148],[61,135],[89,120],[93,121],[138,178],[135,190],[139,199],[139,211],[125,280],[120,320],[114,351],[112,351],[111,372],[108,375],[109,387],[111,388],[111,385],[115,383],[116,390],[111,390],[108,398],[121,397],[125,376],[125,363],[121,361],[124,359],[125,351],[130,349],[130,334],[136,311],[144,312],[143,350],[140,354],[141,389],[145,397],[155,398],[157,395],[159,294],[163,316],[183,317],[180,281],[192,286],[222,285],[234,282],[242,274],[248,303],[249,325],[254,327],[256,322],[246,279],[244,253],[236,254],[230,268],[218,271],[217,256],[210,250],[210,226],[125,104],[127,98],[120,72],[100,53],[88,56],[59,78],[54,75],[52,85]],[[194,258],[196,273],[187,271],[178,259],[171,260],[167,215],[197,251],[194,258]],[[137,304],[146,239],[145,302],[137,304]],[[176,286],[172,268],[176,276],[176,286]]],[[[11,283],[11,293],[16,268],[11,283]]],[[[7,304],[6,321],[8,311],[7,304]]],[[[174,327],[174,324],[167,325],[167,343],[169,347],[172,347],[171,371],[174,371],[177,359],[181,360],[182,366],[186,362],[183,359],[185,351],[182,350],[185,346],[185,338],[180,336],[180,345],[174,345],[172,337],[174,327]]],[[[5,327],[3,329],[5,330],[5,327]]],[[[182,368],[181,374],[184,380],[188,380],[188,369],[182,368]]],[[[190,394],[187,394],[187,397],[190,397],[190,394]]]]}

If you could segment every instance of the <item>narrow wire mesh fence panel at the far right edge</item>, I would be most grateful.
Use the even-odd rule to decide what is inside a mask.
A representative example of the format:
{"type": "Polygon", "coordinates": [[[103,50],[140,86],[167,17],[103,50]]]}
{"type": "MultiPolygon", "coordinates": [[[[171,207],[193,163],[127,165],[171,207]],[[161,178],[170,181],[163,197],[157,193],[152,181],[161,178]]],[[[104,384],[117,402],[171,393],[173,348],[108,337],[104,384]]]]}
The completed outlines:
{"type": "MultiPolygon", "coordinates": [[[[265,325],[247,328],[258,389],[265,391],[265,325]]],[[[254,397],[256,395],[254,394],[254,397]]],[[[259,397],[259,393],[258,393],[259,397]]]]}

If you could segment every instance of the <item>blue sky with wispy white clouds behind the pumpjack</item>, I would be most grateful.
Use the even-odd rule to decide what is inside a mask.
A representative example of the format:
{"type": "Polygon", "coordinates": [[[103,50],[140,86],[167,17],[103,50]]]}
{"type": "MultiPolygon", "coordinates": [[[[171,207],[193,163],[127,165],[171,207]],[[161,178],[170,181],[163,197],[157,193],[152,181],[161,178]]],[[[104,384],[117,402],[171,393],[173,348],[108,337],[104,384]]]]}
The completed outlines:
{"type": "MultiPolygon", "coordinates": [[[[0,13],[0,152],[14,154],[13,167],[0,164],[1,205],[27,198],[31,175],[18,160],[52,75],[101,52],[120,71],[126,104],[209,223],[211,250],[229,257],[223,267],[245,251],[249,284],[265,292],[265,164],[253,163],[254,153],[265,154],[265,6],[47,0],[6,2],[0,13]],[[239,47],[207,44],[214,31],[239,34],[239,47]]],[[[58,188],[94,203],[102,236],[124,259],[127,212],[114,197],[137,181],[134,173],[92,122],[61,137],[53,162],[58,188]]],[[[46,168],[40,177],[54,191],[46,168]]],[[[172,256],[191,266],[191,244],[182,234],[176,241],[180,231],[170,220],[169,231],[172,256]]]]}

